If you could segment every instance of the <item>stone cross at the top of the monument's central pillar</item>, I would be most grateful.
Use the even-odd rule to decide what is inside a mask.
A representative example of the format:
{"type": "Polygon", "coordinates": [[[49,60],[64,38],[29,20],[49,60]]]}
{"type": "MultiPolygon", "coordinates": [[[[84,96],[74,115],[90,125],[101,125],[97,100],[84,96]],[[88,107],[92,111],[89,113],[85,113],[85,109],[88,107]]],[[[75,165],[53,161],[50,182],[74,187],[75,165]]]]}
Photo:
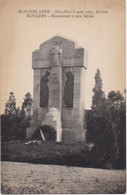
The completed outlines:
{"type": "Polygon", "coordinates": [[[51,55],[53,55],[52,64],[53,65],[60,65],[60,56],[62,56],[62,49],[59,46],[55,46],[51,50],[51,55]]]}

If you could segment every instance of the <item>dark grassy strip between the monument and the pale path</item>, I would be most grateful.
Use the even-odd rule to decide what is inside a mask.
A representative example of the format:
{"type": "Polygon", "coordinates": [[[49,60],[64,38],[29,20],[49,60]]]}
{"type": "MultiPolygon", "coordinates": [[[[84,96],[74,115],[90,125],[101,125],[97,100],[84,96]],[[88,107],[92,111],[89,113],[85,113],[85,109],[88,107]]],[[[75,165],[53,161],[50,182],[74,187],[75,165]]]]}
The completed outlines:
{"type": "Polygon", "coordinates": [[[102,168],[93,148],[85,143],[63,144],[49,141],[27,145],[24,141],[2,142],[2,160],[102,168]]]}

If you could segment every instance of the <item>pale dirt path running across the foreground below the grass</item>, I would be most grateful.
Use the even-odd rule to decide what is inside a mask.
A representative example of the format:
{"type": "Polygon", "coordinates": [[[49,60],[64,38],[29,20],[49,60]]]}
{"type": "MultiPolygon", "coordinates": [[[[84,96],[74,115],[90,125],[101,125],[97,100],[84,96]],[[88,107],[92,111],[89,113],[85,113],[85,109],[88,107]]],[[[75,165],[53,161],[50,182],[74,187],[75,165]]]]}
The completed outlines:
{"type": "Polygon", "coordinates": [[[2,162],[2,193],[125,193],[125,171],[2,162]]]}

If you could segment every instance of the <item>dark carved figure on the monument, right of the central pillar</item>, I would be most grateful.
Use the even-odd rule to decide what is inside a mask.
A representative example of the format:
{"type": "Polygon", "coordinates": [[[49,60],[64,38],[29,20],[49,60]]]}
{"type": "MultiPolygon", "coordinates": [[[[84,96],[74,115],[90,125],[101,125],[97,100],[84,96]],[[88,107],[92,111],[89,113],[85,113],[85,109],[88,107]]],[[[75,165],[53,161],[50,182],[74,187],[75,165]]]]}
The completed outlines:
{"type": "Polygon", "coordinates": [[[64,103],[68,107],[73,107],[74,76],[72,72],[66,73],[67,80],[64,87],[64,103]]]}

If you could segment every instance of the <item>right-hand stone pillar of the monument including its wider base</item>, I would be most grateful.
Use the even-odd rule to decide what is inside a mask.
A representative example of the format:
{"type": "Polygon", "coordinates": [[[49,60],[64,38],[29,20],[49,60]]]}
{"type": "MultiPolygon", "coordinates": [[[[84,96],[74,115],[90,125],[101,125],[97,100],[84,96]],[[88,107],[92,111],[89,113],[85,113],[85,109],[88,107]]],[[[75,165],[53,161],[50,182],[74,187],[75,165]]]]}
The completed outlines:
{"type": "Polygon", "coordinates": [[[85,141],[86,130],[84,129],[84,68],[73,67],[74,72],[74,96],[73,107],[63,107],[63,135],[64,143],[85,141]]]}

